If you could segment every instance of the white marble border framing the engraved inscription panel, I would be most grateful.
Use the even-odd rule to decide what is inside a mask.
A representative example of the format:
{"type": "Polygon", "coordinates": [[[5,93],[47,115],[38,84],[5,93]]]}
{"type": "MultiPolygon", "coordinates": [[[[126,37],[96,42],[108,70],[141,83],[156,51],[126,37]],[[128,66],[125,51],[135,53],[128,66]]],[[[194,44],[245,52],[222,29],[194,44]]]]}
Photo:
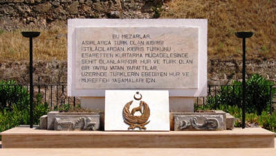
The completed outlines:
{"type": "MultiPolygon", "coordinates": [[[[68,19],[68,96],[104,96],[105,89],[80,89],[76,80],[76,28],[199,28],[199,55],[197,66],[197,88],[158,88],[169,90],[169,96],[205,96],[207,94],[207,19],[68,19]]],[[[180,32],[181,33],[181,32],[180,32]]],[[[117,87],[113,87],[117,89],[117,87]]],[[[127,88],[126,88],[127,89],[127,88]]],[[[156,90],[154,87],[147,89],[156,90]]]]}

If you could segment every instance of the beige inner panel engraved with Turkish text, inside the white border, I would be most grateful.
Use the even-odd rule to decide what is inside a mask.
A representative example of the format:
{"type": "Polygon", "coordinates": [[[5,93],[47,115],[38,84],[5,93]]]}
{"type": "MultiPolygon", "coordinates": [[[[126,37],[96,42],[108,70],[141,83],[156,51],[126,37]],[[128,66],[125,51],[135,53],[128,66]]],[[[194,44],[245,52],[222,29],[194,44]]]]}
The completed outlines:
{"type": "Polygon", "coordinates": [[[75,28],[75,88],[198,88],[199,28],[75,28]]]}

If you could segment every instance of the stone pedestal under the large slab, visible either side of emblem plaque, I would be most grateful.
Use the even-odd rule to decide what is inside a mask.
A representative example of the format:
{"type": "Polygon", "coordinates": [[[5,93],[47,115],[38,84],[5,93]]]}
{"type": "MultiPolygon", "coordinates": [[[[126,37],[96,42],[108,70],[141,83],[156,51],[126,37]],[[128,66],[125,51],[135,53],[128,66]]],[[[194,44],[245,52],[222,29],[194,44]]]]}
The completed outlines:
{"type": "MultiPolygon", "coordinates": [[[[81,107],[104,112],[104,97],[82,97],[81,107]]],[[[169,112],[194,112],[193,97],[169,97],[169,112]]]]}

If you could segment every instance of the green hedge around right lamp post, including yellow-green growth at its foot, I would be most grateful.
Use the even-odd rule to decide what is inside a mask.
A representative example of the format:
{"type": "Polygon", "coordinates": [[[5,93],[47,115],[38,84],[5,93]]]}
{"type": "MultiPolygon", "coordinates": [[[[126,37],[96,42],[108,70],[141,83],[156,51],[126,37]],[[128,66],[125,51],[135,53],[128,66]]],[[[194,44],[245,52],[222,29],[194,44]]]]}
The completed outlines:
{"type": "MultiPolygon", "coordinates": [[[[195,105],[194,110],[223,110],[234,116],[235,127],[241,127],[242,83],[234,81],[233,86],[222,86],[216,96],[209,96],[207,104],[195,105]]],[[[259,74],[246,81],[246,123],[257,123],[267,130],[276,132],[276,112],[270,112],[270,98],[275,94],[272,81],[259,74]],[[271,86],[271,87],[270,87],[271,86]],[[270,97],[271,96],[271,97],[270,97]]]]}

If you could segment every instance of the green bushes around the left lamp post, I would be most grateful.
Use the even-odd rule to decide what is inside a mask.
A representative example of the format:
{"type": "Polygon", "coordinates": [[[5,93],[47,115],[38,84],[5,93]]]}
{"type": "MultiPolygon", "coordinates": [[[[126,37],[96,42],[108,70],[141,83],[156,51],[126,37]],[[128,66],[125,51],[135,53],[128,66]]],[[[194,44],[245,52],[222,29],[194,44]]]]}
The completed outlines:
{"type": "MultiPolygon", "coordinates": [[[[30,94],[26,87],[17,86],[15,81],[1,82],[0,96],[0,132],[18,125],[28,125],[30,120],[30,94]],[[12,87],[8,87],[8,84],[12,87]],[[12,89],[13,88],[13,89],[12,89]]],[[[39,124],[40,116],[49,112],[47,103],[42,103],[41,94],[37,94],[33,107],[34,124],[39,124]]],[[[1,137],[0,137],[1,139],[1,137]]]]}

